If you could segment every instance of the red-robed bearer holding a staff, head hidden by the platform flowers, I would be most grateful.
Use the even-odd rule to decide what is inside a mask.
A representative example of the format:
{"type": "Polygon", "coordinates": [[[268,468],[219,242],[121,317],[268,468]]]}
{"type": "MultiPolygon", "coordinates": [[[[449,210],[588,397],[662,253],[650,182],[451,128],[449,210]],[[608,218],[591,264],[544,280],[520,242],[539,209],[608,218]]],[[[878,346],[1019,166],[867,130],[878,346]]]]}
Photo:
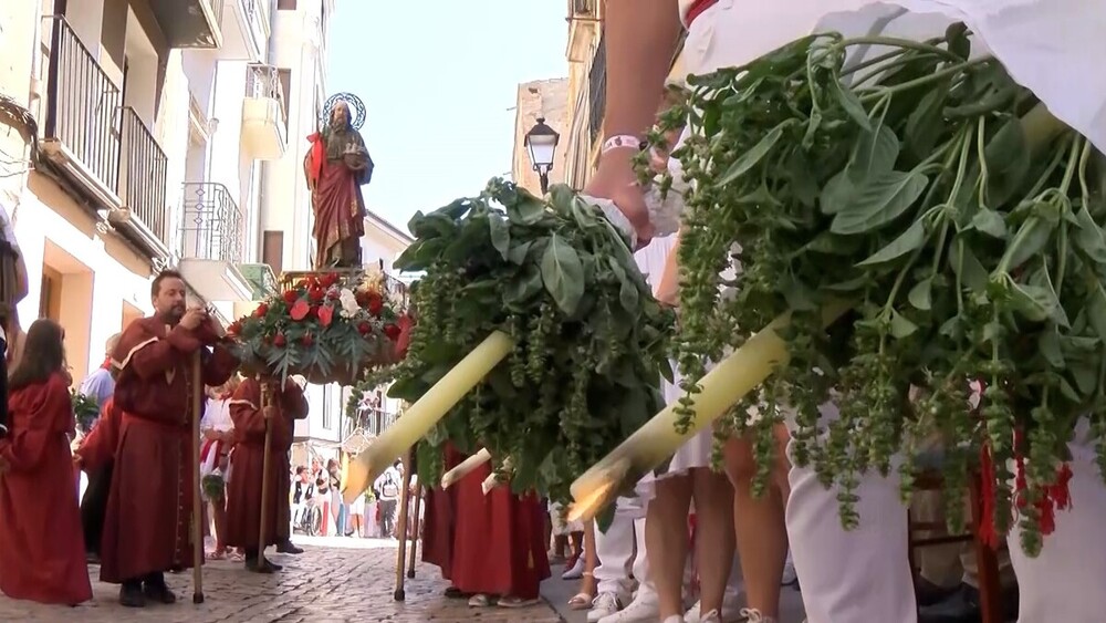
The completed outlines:
{"type": "MultiPolygon", "coordinates": [[[[278,385],[279,382],[273,382],[278,385]]],[[[263,388],[257,378],[247,378],[230,399],[234,420],[234,449],[230,456],[233,477],[227,487],[228,546],[246,549],[246,568],[257,573],[279,571],[280,565],[259,555],[259,549],[283,546],[289,540],[291,517],[288,492],[292,488],[289,453],[296,419],[307,416],[307,401],[292,378],[281,390],[263,388]],[[272,402],[263,404],[262,393],[272,402]],[[265,542],[261,532],[261,492],[264,478],[265,428],[272,427],[269,454],[269,508],[265,510],[265,542]],[[259,563],[259,558],[261,561],[259,563]]]]}

